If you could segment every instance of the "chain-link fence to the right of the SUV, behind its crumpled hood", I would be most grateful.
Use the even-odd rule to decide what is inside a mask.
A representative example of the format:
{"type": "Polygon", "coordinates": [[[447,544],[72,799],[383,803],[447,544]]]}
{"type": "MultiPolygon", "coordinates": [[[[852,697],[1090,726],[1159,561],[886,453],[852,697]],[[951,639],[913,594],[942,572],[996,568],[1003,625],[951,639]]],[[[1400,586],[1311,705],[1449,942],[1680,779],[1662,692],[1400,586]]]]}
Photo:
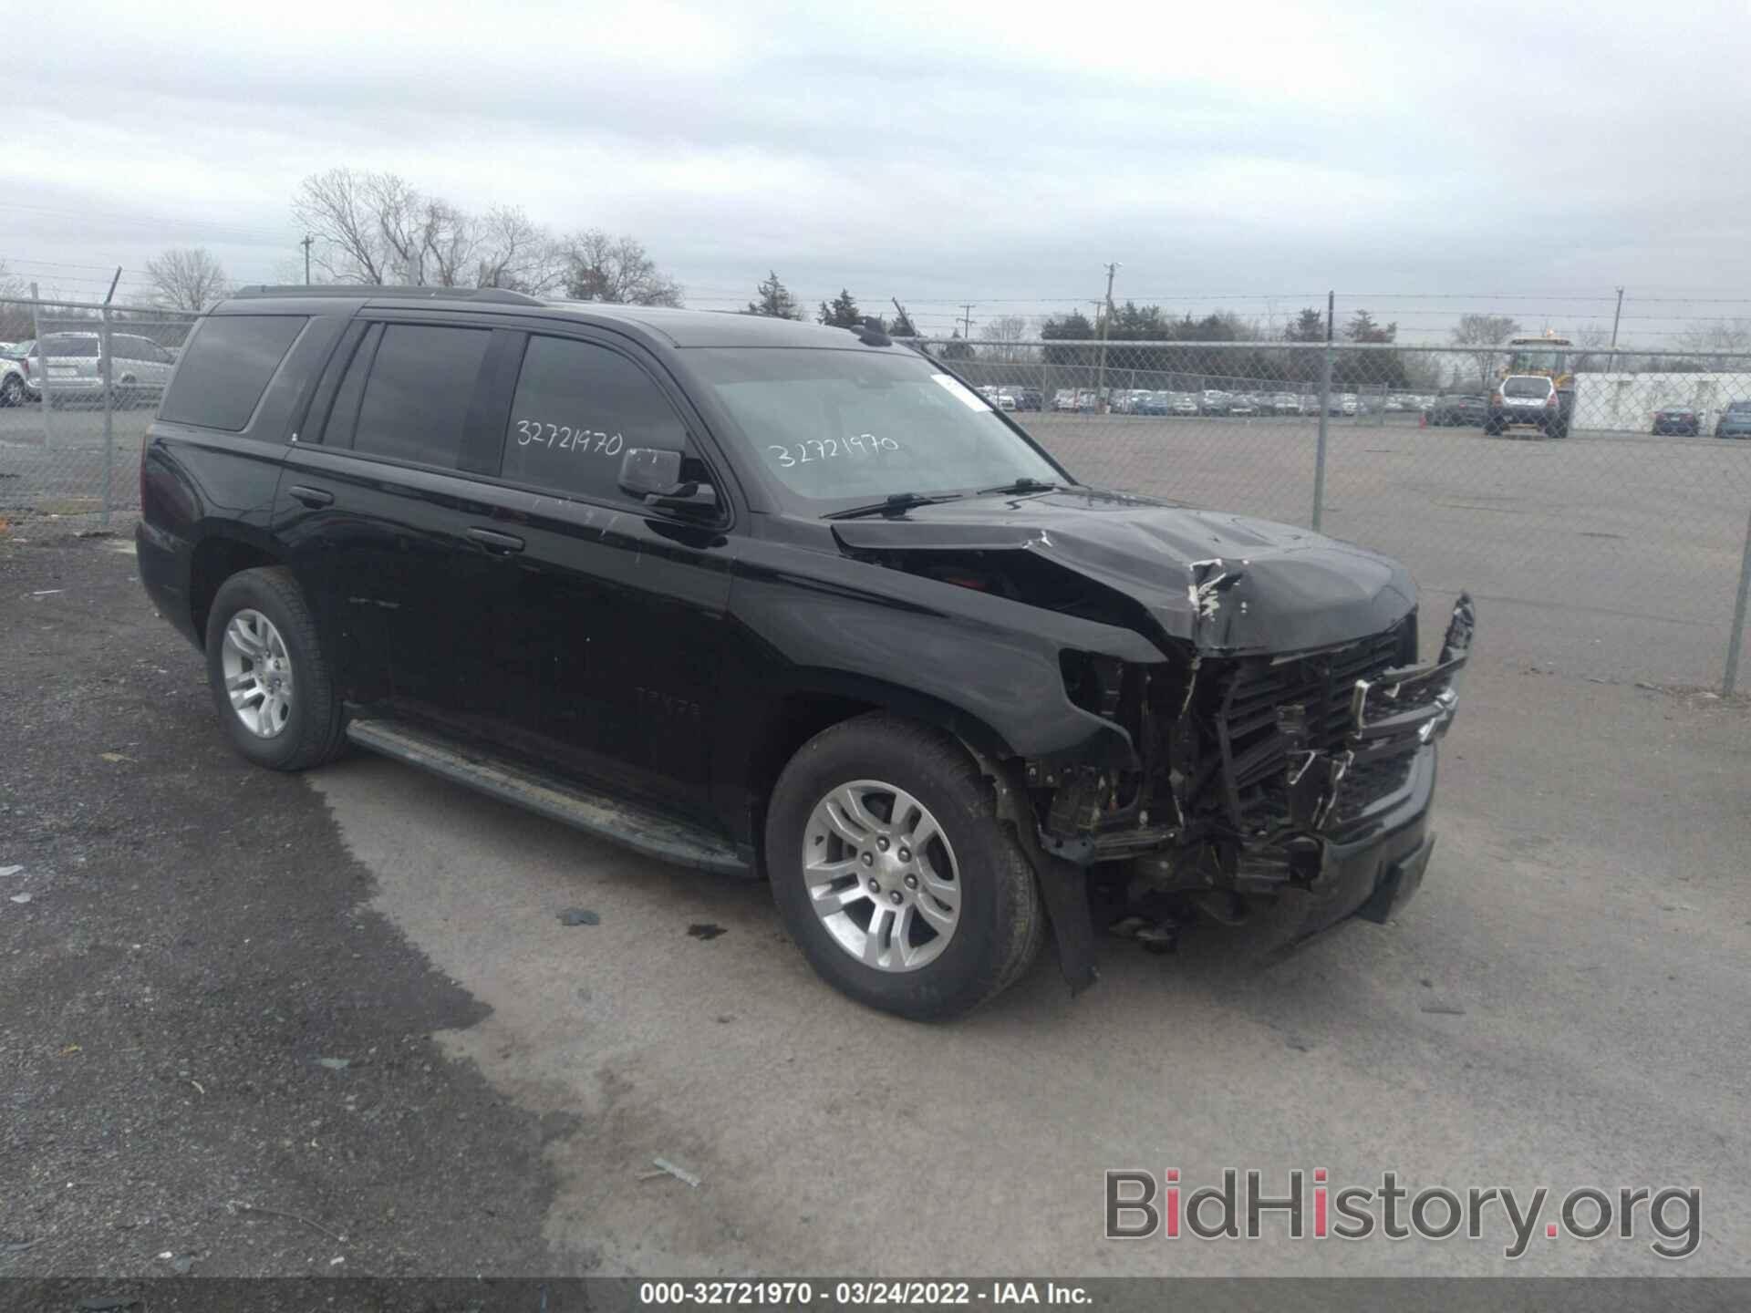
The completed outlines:
{"type": "Polygon", "coordinates": [[[1751,359],[1261,343],[921,343],[1077,478],[1378,548],[1495,651],[1732,692],[1751,359]]]}

